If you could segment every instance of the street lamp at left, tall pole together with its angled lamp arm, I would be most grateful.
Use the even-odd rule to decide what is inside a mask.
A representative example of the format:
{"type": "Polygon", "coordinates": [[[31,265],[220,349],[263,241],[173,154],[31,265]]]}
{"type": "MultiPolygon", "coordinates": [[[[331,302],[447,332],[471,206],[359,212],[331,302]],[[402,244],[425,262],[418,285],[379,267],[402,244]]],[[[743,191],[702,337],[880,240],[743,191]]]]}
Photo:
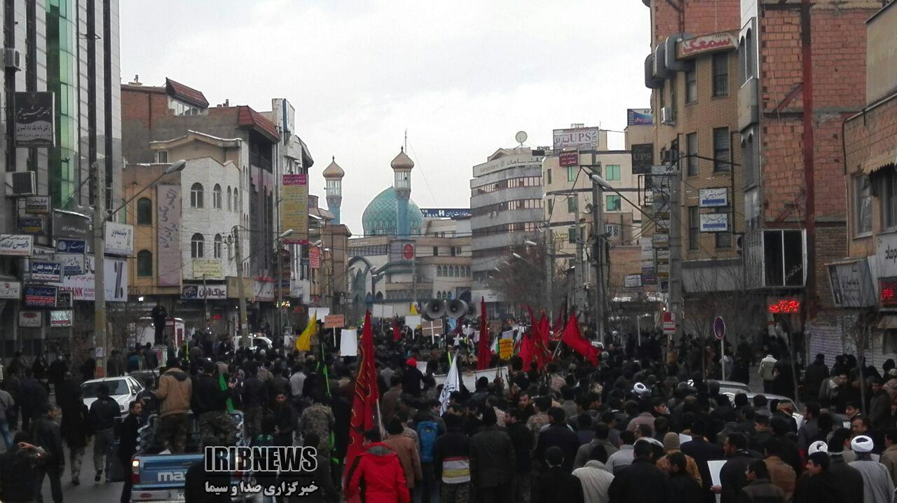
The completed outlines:
{"type": "Polygon", "coordinates": [[[186,160],[176,160],[167,169],[162,171],[161,175],[156,177],[149,185],[144,186],[131,196],[125,203],[121,204],[112,212],[106,212],[106,169],[100,169],[99,161],[93,161],[91,169],[96,176],[96,198],[93,204],[93,332],[94,341],[100,339],[100,351],[102,356],[97,359],[97,365],[101,366],[103,374],[105,374],[105,362],[109,358],[109,348],[106,343],[106,221],[112,215],[119,212],[127,204],[130,204],[138,195],[144,193],[147,188],[156,185],[156,183],[166,175],[177,173],[187,166],[186,160]]]}

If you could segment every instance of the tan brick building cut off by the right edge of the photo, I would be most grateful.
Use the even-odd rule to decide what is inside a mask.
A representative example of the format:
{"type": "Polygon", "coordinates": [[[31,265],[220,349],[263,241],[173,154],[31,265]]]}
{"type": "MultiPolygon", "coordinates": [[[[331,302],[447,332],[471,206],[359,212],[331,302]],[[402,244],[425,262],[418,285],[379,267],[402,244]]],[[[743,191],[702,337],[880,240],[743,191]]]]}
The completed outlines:
{"type": "MultiPolygon", "coordinates": [[[[848,259],[832,267],[829,281],[849,322],[867,315],[844,325],[871,329],[867,355],[881,365],[897,352],[897,4],[871,16],[866,29],[866,106],[844,121],[848,259]]],[[[821,342],[827,343],[823,349],[839,352],[854,346],[850,338],[841,347],[838,341],[821,342]]]]}

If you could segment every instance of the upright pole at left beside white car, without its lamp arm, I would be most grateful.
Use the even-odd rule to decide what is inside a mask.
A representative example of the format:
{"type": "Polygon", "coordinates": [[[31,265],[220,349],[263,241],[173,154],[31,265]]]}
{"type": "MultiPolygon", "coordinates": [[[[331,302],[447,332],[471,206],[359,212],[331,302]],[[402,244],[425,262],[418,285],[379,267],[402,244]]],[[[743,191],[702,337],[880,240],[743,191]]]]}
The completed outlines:
{"type": "Polygon", "coordinates": [[[106,377],[109,347],[106,343],[106,166],[93,162],[96,190],[93,191],[93,343],[102,357],[96,359],[100,376],[106,377]]]}

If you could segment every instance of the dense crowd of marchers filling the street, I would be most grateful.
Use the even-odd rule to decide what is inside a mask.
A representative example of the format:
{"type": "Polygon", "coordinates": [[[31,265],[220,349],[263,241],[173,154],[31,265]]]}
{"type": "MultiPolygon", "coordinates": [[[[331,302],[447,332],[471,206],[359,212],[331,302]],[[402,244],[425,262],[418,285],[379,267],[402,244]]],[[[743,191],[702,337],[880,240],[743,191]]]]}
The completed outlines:
{"type": "MultiPolygon", "coordinates": [[[[340,358],[326,337],[320,340],[323,348],[316,343],[313,351],[301,352],[235,351],[205,340],[172,349],[158,381],[146,379],[146,389],[118,426],[118,405],[110,402],[108,389],[100,389],[90,408],[83,405],[80,382],[92,377],[92,369],[88,374],[83,365],[71,368],[63,356],[57,359],[62,378],[50,377],[54,362],[44,383],[35,376],[38,363],[26,366],[17,356],[4,376],[4,389],[13,383],[13,393],[0,392],[7,446],[0,455],[0,500],[41,501],[40,485],[48,477],[54,501],[61,502],[65,462],[71,482],[80,483],[81,458],[91,441],[95,483],[101,483],[104,470],[109,477],[109,459],[127,464],[135,454],[136,431],[153,414],[159,418],[160,449],[182,453],[196,447],[189,445],[191,417],[199,424],[200,445],[233,445],[238,424],[229,412],[234,409],[243,413],[245,438],[252,445],[318,447],[312,478],[319,490],[303,500],[893,499],[897,369],[892,360],[875,369],[841,355],[829,367],[818,355],[804,369],[783,365],[787,350],[777,350],[774,339],[733,348],[736,360],[759,364],[764,381],[767,367],[773,382],[783,374],[793,381],[789,372],[799,369],[803,405],[798,409],[790,399],[749,399],[721,387],[715,379],[731,374],[712,361],[701,364],[701,355],[692,358],[692,348],[701,342],[660,351],[662,339],[654,335],[608,343],[597,367],[563,348],[542,369],[536,362],[525,369],[518,357],[501,367],[496,358],[494,373],[479,377],[473,389],[461,386],[443,395],[445,377],[436,375],[448,370],[449,353],[461,371],[470,369],[472,343],[455,344],[449,336],[433,344],[427,337],[396,340],[386,330],[377,333],[382,428],[363,432],[362,453],[348,465],[358,362],[340,358]],[[774,361],[764,366],[764,360],[774,361]],[[50,403],[47,384],[55,386],[56,403],[50,403]],[[22,428],[9,438],[20,419],[22,428]],[[112,452],[115,438],[118,451],[112,452]],[[23,473],[33,483],[20,483],[23,473]]],[[[152,351],[129,352],[145,360],[152,351]]],[[[126,369],[133,366],[128,360],[134,363],[130,356],[126,369]]],[[[767,388],[764,382],[767,393],[795,386],[787,388],[767,388]]],[[[201,467],[191,469],[187,501],[217,498],[202,490],[210,476],[201,467]]],[[[129,480],[123,502],[130,499],[129,480]]]]}

